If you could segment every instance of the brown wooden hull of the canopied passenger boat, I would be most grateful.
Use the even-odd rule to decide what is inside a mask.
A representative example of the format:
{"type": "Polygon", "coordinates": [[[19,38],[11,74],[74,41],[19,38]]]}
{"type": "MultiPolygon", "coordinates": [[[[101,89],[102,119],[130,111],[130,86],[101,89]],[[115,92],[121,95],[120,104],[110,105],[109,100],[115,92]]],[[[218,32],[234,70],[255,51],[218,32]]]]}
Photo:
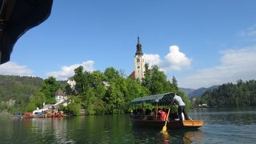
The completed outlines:
{"type": "MultiPolygon", "coordinates": [[[[145,126],[145,127],[155,127],[162,128],[165,125],[164,121],[154,121],[154,120],[142,120],[130,118],[133,126],[145,126]]],[[[198,120],[185,120],[185,121],[170,121],[167,122],[166,127],[168,129],[198,129],[204,124],[204,121],[198,120]]]]}

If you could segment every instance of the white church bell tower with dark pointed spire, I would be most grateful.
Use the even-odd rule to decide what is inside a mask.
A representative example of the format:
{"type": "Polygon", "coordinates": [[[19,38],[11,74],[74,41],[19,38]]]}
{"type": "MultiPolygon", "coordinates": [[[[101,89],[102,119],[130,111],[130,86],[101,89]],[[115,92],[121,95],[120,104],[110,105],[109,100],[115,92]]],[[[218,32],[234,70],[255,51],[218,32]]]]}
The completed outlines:
{"type": "Polygon", "coordinates": [[[142,44],[139,41],[138,37],[138,42],[137,42],[137,50],[134,56],[134,76],[135,78],[139,79],[142,82],[142,78],[144,78],[144,73],[145,73],[145,62],[144,62],[144,55],[142,53],[142,44]]]}

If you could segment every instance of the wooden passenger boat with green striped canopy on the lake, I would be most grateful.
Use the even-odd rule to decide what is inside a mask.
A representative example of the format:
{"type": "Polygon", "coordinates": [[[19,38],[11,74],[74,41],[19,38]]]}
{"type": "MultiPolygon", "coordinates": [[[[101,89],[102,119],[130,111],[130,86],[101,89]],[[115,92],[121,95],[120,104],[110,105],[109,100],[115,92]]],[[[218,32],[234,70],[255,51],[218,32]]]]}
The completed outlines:
{"type": "MultiPolygon", "coordinates": [[[[131,105],[141,105],[142,103],[151,103],[153,106],[156,106],[156,110],[158,110],[158,106],[170,106],[174,93],[166,93],[166,94],[154,94],[146,97],[135,98],[130,102],[131,105]]],[[[170,107],[169,107],[170,108],[170,107]]],[[[169,109],[170,110],[170,109],[169,109]]],[[[198,129],[203,126],[203,120],[194,120],[190,118],[190,120],[180,121],[177,118],[166,118],[163,120],[161,115],[156,114],[141,114],[141,115],[130,115],[130,121],[133,126],[146,126],[146,127],[154,127],[161,129],[165,126],[167,129],[198,129]],[[167,121],[167,122],[166,122],[167,121]]]]}

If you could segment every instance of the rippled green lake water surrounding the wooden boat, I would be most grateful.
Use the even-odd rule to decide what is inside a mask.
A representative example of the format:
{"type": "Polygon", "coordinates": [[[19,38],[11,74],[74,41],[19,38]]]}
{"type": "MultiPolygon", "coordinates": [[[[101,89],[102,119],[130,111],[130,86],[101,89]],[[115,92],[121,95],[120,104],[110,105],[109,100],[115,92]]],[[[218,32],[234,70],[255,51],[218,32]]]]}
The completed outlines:
{"type": "Polygon", "coordinates": [[[255,143],[256,108],[188,110],[205,120],[198,130],[133,127],[128,114],[13,119],[0,116],[0,143],[255,143]]]}

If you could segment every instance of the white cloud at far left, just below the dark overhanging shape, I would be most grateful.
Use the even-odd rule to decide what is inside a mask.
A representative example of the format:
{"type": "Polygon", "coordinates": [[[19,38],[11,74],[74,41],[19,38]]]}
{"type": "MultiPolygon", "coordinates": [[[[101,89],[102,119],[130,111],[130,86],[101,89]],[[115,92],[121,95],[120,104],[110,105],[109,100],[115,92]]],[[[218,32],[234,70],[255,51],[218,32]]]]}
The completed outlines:
{"type": "Polygon", "coordinates": [[[33,76],[33,71],[28,69],[27,66],[18,65],[16,62],[6,62],[0,65],[0,74],[33,76]]]}

